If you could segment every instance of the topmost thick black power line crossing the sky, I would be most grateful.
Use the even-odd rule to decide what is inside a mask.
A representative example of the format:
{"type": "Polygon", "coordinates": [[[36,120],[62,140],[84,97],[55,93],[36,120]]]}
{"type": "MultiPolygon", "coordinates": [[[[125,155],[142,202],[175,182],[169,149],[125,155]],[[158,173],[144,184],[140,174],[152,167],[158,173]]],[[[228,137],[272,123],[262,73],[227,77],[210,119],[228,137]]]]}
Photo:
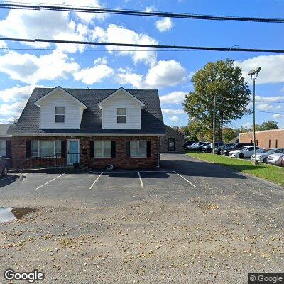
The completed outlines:
{"type": "Polygon", "coordinates": [[[261,23],[284,23],[284,18],[259,18],[259,17],[240,17],[240,16],[214,16],[193,13],[170,13],[161,11],[141,11],[126,9],[104,9],[99,7],[72,6],[72,5],[42,5],[42,4],[11,4],[11,2],[2,2],[0,8],[4,9],[25,9],[25,10],[50,10],[50,11],[71,11],[83,13],[108,13],[126,16],[151,16],[151,17],[168,17],[168,18],[187,18],[195,20],[211,21],[249,21],[261,23]]]}

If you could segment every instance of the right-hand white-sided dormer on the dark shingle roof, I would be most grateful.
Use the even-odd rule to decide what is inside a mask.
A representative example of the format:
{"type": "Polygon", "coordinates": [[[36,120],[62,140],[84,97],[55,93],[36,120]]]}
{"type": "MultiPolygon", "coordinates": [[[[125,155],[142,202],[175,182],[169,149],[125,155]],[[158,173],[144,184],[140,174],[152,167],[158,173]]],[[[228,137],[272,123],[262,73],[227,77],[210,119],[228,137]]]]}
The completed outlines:
{"type": "Polygon", "coordinates": [[[99,103],[102,109],[102,129],[141,129],[141,104],[124,89],[119,89],[116,94],[99,103]],[[125,123],[117,121],[117,109],[126,109],[125,123]]]}

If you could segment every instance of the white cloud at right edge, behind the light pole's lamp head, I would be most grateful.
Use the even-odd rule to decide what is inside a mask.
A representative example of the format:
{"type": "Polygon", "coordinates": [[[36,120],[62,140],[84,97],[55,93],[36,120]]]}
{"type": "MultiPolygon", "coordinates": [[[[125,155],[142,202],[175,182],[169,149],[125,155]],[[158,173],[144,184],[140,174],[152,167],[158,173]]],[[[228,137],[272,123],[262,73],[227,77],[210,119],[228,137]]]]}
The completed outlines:
{"type": "Polygon", "coordinates": [[[284,82],[284,55],[262,55],[249,58],[241,62],[236,61],[236,65],[243,69],[243,76],[249,84],[252,84],[249,71],[261,66],[257,78],[257,84],[284,82]]]}

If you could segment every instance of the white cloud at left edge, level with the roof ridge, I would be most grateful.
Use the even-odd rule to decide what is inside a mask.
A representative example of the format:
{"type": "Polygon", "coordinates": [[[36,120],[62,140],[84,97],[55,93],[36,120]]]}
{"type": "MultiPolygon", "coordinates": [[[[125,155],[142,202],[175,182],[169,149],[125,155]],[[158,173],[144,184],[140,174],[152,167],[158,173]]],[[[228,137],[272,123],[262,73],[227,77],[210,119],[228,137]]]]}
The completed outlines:
{"type": "Polygon", "coordinates": [[[12,87],[10,89],[4,89],[0,91],[0,99],[3,102],[20,102],[23,99],[28,99],[33,89],[35,87],[45,87],[45,86],[35,86],[35,85],[27,85],[24,87],[12,87]]]}

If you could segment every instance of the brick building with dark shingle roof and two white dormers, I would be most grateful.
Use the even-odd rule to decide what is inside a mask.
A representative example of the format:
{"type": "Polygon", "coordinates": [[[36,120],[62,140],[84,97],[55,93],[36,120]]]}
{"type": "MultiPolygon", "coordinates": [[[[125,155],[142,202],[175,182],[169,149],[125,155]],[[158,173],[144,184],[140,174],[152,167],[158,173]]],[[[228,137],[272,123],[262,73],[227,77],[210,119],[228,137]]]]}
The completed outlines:
{"type": "Polygon", "coordinates": [[[11,137],[13,167],[153,168],[165,135],[157,90],[35,88],[11,137]]]}

